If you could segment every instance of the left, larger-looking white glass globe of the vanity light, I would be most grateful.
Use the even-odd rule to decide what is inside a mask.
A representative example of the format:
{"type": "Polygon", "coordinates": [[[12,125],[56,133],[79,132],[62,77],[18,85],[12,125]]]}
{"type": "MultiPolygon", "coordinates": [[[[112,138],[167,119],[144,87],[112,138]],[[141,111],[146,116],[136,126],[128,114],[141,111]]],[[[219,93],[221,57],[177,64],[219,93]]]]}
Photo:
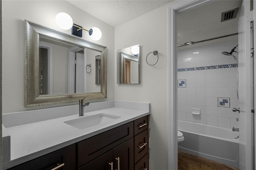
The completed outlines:
{"type": "Polygon", "coordinates": [[[73,20],[71,16],[65,12],[60,12],[55,17],[57,25],[63,30],[69,30],[73,26],[73,20]]]}

